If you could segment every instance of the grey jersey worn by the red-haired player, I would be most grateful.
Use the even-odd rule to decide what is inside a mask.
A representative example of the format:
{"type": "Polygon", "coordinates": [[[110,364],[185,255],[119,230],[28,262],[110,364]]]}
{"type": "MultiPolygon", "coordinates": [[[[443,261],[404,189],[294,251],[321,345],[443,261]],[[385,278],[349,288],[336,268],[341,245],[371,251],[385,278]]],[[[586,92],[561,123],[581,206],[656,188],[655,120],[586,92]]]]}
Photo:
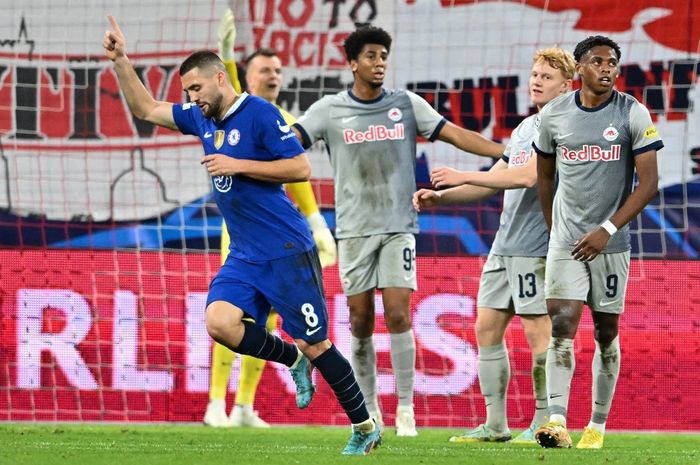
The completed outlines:
{"type": "MultiPolygon", "coordinates": [[[[538,131],[535,115],[529,116],[513,130],[503,155],[508,168],[525,165],[536,156],[532,142],[538,131]]],[[[507,189],[503,196],[501,226],[491,246],[497,255],[514,257],[544,257],[547,255],[547,223],[544,221],[537,186],[507,189]]]]}

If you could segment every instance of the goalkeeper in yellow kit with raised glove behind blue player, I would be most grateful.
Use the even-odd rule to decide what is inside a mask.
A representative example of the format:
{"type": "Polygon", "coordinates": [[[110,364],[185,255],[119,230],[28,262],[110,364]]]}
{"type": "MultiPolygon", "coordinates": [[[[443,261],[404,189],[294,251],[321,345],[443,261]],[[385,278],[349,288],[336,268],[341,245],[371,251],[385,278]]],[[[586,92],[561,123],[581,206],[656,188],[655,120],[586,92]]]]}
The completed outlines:
{"type": "MultiPolygon", "coordinates": [[[[240,94],[241,84],[233,57],[235,37],[236,27],[233,13],[231,10],[226,10],[219,25],[219,55],[226,65],[233,87],[240,94]]],[[[273,50],[259,49],[248,58],[246,62],[246,84],[249,93],[276,105],[282,85],[282,64],[273,50]]],[[[291,126],[295,122],[294,117],[282,108],[279,108],[279,110],[285,122],[291,126]]],[[[286,184],[285,187],[311,226],[311,231],[318,247],[321,265],[323,267],[334,265],[337,257],[335,239],[319,212],[311,184],[305,181],[286,184]]],[[[229,242],[230,238],[226,231],[226,226],[222,226],[222,263],[228,255],[229,242]]],[[[266,327],[268,331],[272,331],[277,327],[277,313],[270,313],[266,327]]],[[[236,354],[234,352],[218,343],[214,343],[211,360],[209,404],[204,414],[204,424],[213,427],[252,426],[267,428],[269,425],[253,410],[255,391],[262,376],[265,360],[246,355],[241,357],[241,372],[236,400],[231,414],[226,414],[226,392],[231,376],[231,364],[235,357],[236,354]]]]}

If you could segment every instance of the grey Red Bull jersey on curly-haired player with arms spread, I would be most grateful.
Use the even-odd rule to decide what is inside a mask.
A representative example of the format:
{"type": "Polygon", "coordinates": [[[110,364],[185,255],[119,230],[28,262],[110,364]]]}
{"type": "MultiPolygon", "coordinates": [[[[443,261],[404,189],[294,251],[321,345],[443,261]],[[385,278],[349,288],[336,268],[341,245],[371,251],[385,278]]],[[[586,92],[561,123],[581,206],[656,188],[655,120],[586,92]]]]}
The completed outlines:
{"type": "Polygon", "coordinates": [[[416,136],[434,140],[446,120],[406,90],[376,100],[323,97],[299,118],[304,146],[326,142],[335,181],[336,237],[416,233],[416,136]]]}

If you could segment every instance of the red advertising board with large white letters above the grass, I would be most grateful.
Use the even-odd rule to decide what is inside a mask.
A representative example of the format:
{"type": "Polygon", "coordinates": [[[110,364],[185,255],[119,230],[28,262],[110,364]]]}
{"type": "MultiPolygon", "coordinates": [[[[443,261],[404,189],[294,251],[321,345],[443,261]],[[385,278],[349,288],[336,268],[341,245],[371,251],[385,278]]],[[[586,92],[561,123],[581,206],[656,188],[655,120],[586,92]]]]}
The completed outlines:
{"type": "MultiPolygon", "coordinates": [[[[0,420],[201,421],[210,358],[203,307],[218,261],[217,254],[0,251],[0,420]]],[[[419,425],[462,427],[483,419],[473,328],[482,263],[418,259],[412,312],[419,425]]],[[[633,261],[610,428],[700,430],[698,283],[698,261],[633,261]]],[[[326,270],[325,286],[330,337],[347,355],[348,312],[335,268],[326,270]]],[[[389,338],[383,321],[377,328],[380,392],[391,423],[389,338]]],[[[517,321],[507,344],[511,425],[524,427],[534,405],[530,355],[517,321]]],[[[576,339],[574,428],[590,415],[593,350],[587,315],[576,339]]],[[[320,378],[311,407],[299,411],[286,368],[274,365],[256,400],[264,419],[346,422],[320,378]]],[[[235,376],[230,385],[235,389],[235,376]]]]}

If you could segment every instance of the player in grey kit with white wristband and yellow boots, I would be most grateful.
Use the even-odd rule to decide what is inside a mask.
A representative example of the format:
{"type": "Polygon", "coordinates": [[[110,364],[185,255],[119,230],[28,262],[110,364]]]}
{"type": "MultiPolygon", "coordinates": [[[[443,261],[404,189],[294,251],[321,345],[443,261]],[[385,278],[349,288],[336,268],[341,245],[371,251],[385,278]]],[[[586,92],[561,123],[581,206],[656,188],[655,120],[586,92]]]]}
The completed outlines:
{"type": "Polygon", "coordinates": [[[545,274],[552,319],[546,368],[550,421],[535,432],[543,447],[571,447],[566,414],[584,303],[592,310],[596,345],[593,411],[576,447],[603,447],[620,372],[618,323],[630,263],[628,223],[657,191],[656,151],[663,142],[649,111],[614,89],[620,56],[618,44],[603,36],[576,46],[581,90],[542,110],[533,144],[542,211],[551,227],[545,274]],[[633,191],[635,171],[639,183],[633,191]]]}

